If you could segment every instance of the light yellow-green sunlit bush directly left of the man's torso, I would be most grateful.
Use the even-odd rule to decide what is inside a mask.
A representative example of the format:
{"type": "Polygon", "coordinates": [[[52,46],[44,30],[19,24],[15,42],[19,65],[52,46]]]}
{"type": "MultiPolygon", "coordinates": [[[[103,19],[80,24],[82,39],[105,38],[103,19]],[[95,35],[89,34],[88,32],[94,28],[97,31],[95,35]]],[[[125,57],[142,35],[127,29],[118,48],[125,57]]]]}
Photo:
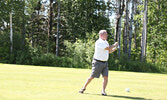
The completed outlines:
{"type": "Polygon", "coordinates": [[[67,57],[71,58],[73,65],[78,68],[90,68],[93,59],[95,38],[97,34],[87,34],[85,40],[77,39],[75,43],[65,41],[67,57]]]}

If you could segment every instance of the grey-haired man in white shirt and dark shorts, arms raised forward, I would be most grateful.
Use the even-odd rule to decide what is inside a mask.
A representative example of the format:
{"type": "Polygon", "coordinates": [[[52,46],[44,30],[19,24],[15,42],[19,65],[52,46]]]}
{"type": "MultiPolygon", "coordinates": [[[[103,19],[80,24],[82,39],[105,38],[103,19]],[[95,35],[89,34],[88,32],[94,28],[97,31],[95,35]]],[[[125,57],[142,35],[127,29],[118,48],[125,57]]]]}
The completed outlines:
{"type": "Polygon", "coordinates": [[[103,75],[103,89],[101,91],[101,95],[106,96],[106,86],[108,83],[108,58],[109,53],[114,52],[117,50],[118,43],[115,42],[113,45],[108,44],[107,42],[107,31],[100,30],[99,31],[99,39],[95,43],[95,53],[93,56],[92,61],[92,73],[91,76],[87,79],[84,86],[81,88],[79,93],[84,93],[86,90],[87,85],[92,81],[94,78],[99,78],[100,74],[103,75]]]}

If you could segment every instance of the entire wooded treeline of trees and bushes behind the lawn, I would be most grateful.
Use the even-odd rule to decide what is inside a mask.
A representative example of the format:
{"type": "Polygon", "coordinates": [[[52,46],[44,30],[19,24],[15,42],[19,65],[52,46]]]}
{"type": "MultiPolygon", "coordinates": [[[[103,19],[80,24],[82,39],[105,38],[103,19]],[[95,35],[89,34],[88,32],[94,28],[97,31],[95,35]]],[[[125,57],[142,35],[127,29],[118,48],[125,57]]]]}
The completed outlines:
{"type": "Polygon", "coordinates": [[[165,72],[166,12],[165,0],[0,0],[0,62],[90,68],[106,29],[120,47],[110,69],[165,72]]]}

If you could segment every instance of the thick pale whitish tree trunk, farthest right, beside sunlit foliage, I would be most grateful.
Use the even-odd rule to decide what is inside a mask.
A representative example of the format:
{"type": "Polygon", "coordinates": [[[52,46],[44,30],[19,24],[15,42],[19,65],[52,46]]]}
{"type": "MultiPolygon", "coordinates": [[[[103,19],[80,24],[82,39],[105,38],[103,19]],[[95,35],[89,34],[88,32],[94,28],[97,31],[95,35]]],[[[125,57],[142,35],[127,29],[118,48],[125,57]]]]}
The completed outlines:
{"type": "Polygon", "coordinates": [[[141,60],[146,59],[146,39],[147,39],[147,0],[144,2],[144,18],[143,18],[143,32],[141,39],[141,60]]]}

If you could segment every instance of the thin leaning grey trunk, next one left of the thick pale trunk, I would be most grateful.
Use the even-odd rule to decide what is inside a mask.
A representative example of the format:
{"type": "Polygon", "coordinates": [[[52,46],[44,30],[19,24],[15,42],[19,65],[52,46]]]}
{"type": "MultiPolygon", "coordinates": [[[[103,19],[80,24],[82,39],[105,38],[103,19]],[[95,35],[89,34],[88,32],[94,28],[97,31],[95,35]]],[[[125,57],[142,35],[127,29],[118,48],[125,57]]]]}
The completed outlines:
{"type": "Polygon", "coordinates": [[[131,8],[131,19],[130,19],[130,32],[129,32],[129,52],[128,52],[128,56],[129,59],[131,58],[131,44],[132,44],[132,33],[133,33],[133,15],[134,15],[134,2],[135,0],[131,0],[132,1],[132,8],[131,8]]]}

